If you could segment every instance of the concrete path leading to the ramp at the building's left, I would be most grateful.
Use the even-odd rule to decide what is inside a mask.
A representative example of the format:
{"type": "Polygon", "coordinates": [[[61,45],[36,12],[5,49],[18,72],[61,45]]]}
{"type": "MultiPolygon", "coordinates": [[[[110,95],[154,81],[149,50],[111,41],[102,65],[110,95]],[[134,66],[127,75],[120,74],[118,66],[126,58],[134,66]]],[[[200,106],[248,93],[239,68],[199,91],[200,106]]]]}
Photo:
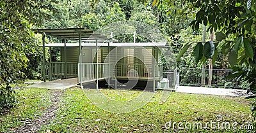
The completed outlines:
{"type": "Polygon", "coordinates": [[[65,80],[53,80],[42,83],[29,85],[29,88],[48,88],[48,89],[66,89],[75,87],[77,85],[77,78],[68,78],[65,80]]]}

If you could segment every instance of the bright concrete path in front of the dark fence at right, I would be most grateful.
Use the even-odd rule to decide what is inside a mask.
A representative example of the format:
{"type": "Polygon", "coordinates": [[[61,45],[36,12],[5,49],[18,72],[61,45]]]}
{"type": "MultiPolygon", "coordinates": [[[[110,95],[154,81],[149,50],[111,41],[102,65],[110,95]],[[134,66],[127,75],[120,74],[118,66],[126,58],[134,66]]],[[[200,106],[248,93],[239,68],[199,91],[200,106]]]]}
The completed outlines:
{"type": "Polygon", "coordinates": [[[227,95],[233,97],[248,96],[246,90],[228,88],[184,87],[178,86],[176,92],[189,94],[227,95]]]}

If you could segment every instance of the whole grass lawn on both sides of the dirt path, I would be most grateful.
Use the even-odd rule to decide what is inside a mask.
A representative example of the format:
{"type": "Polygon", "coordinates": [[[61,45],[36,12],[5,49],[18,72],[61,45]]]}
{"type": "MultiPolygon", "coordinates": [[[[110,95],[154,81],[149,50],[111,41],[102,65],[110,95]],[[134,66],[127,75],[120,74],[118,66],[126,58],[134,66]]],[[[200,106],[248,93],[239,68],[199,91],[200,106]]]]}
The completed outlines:
{"type": "MultiPolygon", "coordinates": [[[[44,88],[17,90],[20,104],[9,114],[0,116],[0,132],[15,130],[24,125],[22,120],[33,121],[40,116],[45,111],[42,108],[51,104],[51,91],[44,88]]],[[[79,88],[60,91],[64,93],[57,105],[56,116],[47,125],[42,125],[39,132],[246,132],[238,128],[252,123],[253,119],[250,101],[243,97],[172,92],[166,101],[159,102],[161,92],[157,92],[145,106],[136,111],[109,113],[89,101],[79,88]],[[216,122],[212,128],[207,125],[210,122],[216,122]],[[225,125],[221,129],[223,122],[230,123],[230,129],[225,128],[225,125]],[[191,129],[179,129],[178,123],[179,127],[189,127],[190,124],[191,129]],[[202,129],[193,128],[195,123],[202,123],[202,129]],[[232,129],[233,123],[237,129],[232,129]]],[[[138,90],[124,92],[104,89],[100,92],[113,101],[129,101],[141,94],[138,90]]]]}

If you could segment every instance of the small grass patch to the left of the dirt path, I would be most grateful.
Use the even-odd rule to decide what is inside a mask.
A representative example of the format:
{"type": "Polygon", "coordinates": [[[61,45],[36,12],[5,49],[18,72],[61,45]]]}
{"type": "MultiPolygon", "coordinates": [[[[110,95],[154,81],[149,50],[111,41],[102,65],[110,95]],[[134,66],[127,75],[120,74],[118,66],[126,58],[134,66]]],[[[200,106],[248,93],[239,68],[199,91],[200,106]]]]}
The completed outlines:
{"type": "MultiPolygon", "coordinates": [[[[25,85],[19,85],[24,87],[25,85]]],[[[24,121],[33,121],[42,114],[49,104],[49,91],[44,88],[22,88],[15,90],[18,94],[19,104],[10,113],[0,115],[0,132],[17,129],[24,125],[24,121]]]]}

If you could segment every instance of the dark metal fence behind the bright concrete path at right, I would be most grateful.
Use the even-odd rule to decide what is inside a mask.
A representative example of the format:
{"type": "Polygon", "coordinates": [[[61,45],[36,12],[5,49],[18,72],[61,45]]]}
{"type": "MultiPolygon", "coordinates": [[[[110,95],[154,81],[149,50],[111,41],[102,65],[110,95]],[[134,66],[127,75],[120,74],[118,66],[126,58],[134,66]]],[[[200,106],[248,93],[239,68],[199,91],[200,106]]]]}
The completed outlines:
{"type": "Polygon", "coordinates": [[[180,69],[180,85],[239,88],[240,81],[227,78],[232,69],[180,69]],[[209,83],[209,71],[212,73],[211,85],[209,83]]]}

